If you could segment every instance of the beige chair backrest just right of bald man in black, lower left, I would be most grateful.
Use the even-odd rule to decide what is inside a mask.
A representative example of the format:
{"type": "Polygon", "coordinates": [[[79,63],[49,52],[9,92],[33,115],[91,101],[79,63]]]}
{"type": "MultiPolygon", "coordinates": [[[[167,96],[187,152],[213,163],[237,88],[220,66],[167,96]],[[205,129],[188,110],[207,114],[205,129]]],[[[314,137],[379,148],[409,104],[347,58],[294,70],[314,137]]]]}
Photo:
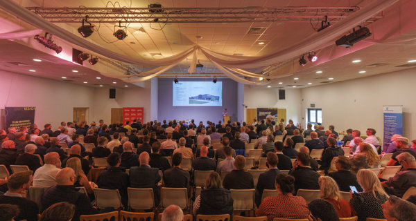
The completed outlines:
{"type": "Polygon", "coordinates": [[[94,195],[96,198],[96,206],[98,208],[112,207],[119,209],[123,206],[121,204],[121,197],[118,189],[94,189],[94,195]]]}

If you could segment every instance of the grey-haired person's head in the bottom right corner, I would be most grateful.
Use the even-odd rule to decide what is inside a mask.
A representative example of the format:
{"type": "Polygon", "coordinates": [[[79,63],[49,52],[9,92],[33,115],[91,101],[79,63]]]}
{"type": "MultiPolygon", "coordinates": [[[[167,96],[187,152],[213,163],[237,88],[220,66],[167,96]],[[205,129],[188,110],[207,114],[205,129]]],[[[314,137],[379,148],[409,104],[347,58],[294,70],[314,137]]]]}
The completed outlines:
{"type": "Polygon", "coordinates": [[[387,221],[415,221],[416,205],[391,195],[385,203],[381,204],[383,214],[387,221]]]}

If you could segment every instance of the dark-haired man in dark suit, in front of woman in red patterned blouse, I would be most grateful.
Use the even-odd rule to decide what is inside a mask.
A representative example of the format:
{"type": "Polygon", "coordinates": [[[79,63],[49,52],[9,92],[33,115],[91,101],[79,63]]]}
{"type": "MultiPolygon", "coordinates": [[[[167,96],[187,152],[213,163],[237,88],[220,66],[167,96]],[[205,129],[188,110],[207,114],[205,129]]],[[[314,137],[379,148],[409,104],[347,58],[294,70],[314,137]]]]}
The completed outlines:
{"type": "Polygon", "coordinates": [[[267,153],[267,164],[269,170],[261,173],[259,175],[259,181],[257,182],[256,186],[256,196],[254,201],[257,204],[257,207],[260,206],[261,203],[261,195],[263,194],[264,189],[276,189],[275,188],[275,180],[276,176],[281,173],[279,169],[277,169],[277,163],[279,162],[279,158],[273,152],[267,153]]]}

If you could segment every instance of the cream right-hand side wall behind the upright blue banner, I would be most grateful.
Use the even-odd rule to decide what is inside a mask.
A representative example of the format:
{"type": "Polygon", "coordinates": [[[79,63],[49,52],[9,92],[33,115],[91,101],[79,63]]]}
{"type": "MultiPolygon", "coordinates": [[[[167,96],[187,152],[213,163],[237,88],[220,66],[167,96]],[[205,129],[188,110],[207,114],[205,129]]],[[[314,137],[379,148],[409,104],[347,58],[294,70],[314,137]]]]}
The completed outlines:
{"type": "Polygon", "coordinates": [[[383,137],[383,106],[403,105],[404,136],[416,139],[416,68],[302,89],[302,113],[322,108],[322,124],[336,131],[375,128],[383,137]]]}

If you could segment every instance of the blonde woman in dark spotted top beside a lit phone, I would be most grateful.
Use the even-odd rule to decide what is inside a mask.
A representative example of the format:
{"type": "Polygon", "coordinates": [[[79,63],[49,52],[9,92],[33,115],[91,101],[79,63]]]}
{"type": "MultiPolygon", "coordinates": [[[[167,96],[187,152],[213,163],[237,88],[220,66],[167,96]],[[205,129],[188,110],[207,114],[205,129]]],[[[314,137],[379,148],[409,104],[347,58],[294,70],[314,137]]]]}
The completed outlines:
{"type": "Polygon", "coordinates": [[[388,200],[379,177],[369,169],[361,169],[357,173],[358,184],[363,188],[363,193],[352,193],[349,203],[358,215],[358,221],[367,218],[384,219],[381,204],[388,200]]]}

